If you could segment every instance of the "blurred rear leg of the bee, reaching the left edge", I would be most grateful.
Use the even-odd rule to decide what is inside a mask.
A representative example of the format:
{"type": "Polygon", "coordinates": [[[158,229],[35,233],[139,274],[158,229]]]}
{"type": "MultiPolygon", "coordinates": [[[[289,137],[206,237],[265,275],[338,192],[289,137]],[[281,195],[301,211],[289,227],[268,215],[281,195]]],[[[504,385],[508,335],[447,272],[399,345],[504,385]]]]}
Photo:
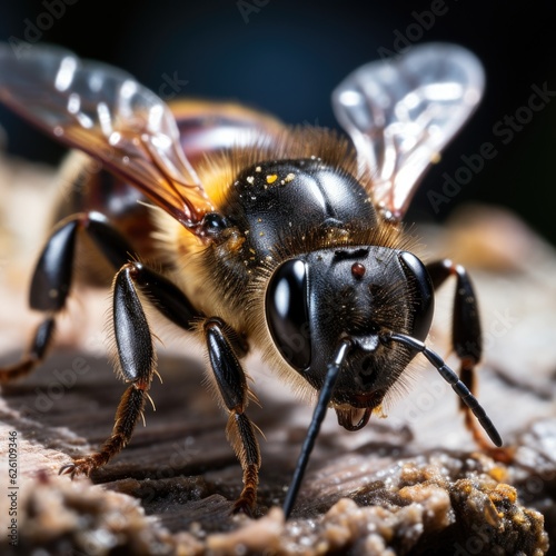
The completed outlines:
{"type": "Polygon", "coordinates": [[[76,239],[81,229],[90,234],[115,268],[129,259],[127,242],[102,215],[79,214],[62,220],[49,237],[31,280],[29,305],[46,314],[44,320],[37,327],[22,359],[0,368],[0,384],[29,375],[44,359],[54,336],[56,317],[64,309],[71,289],[76,239]]]}

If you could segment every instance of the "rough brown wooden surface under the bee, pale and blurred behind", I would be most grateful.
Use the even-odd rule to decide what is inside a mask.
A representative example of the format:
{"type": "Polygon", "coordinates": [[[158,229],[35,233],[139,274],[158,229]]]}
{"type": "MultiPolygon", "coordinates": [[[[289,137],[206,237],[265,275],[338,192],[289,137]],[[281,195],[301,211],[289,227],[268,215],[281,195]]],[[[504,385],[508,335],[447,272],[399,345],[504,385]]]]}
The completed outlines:
{"type": "MultiPolygon", "coordinates": [[[[48,197],[48,175],[22,168],[37,179],[27,198],[48,197]]],[[[11,185],[17,181],[12,162],[2,171],[11,185]]],[[[18,231],[21,221],[8,218],[6,205],[0,365],[17,359],[33,321],[26,309],[26,266],[46,226],[39,211],[28,221],[34,231],[18,231]]],[[[251,404],[249,415],[266,436],[258,519],[230,516],[241,473],[225,438],[226,416],[203,387],[199,347],[161,325],[163,384],[153,384],[157,410],[147,408],[147,427],[139,426],[130,445],[91,480],[58,477],[61,465],[107,437],[125,388],[106,360],[108,292],[79,291],[48,361],[2,388],[2,532],[9,513],[3,493],[10,431],[19,440],[20,486],[19,545],[9,546],[2,536],[2,554],[30,554],[37,547],[51,554],[118,548],[137,554],[546,553],[547,534],[556,543],[556,256],[493,208],[486,214],[475,208],[446,230],[421,231],[431,252],[449,255],[473,271],[486,346],[479,398],[515,448],[510,464],[476,450],[449,385],[420,364],[408,375],[407,391],[386,408],[387,419],[373,418],[354,434],[328,416],[292,518],[284,523],[277,507],[311,408],[254,356],[247,367],[261,407],[251,404]]],[[[439,296],[429,340],[443,355],[448,353],[451,292],[449,285],[439,296]]]]}

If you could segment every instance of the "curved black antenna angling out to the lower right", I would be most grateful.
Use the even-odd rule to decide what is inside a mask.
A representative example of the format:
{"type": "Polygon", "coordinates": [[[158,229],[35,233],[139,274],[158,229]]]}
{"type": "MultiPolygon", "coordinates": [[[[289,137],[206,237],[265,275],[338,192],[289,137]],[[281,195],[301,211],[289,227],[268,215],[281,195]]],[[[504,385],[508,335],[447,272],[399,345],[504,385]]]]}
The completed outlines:
{"type": "Polygon", "coordinates": [[[464,404],[473,411],[473,415],[477,417],[485,433],[488,435],[493,443],[500,447],[502,437],[496,430],[490,418],[487,416],[485,409],[479,404],[478,399],[470,393],[469,388],[459,379],[459,377],[454,373],[445,363],[444,359],[435,351],[429,349],[423,341],[419,341],[411,336],[405,334],[388,334],[386,336],[380,336],[380,341],[383,344],[388,344],[390,341],[397,341],[403,344],[414,351],[423,354],[429,363],[436,367],[436,370],[440,373],[441,377],[451,385],[454,391],[461,398],[464,404]]]}

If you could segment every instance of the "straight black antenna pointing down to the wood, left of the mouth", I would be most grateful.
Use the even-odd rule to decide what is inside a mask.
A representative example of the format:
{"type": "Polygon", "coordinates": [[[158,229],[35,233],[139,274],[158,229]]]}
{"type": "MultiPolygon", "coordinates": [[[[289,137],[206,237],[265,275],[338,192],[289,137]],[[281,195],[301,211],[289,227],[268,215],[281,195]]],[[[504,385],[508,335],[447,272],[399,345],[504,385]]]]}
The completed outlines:
{"type": "Polygon", "coordinates": [[[312,413],[312,419],[307,430],[307,436],[305,437],[304,445],[301,446],[301,451],[297,459],[294,478],[291,479],[286,499],[284,500],[284,514],[286,516],[286,519],[289,517],[289,514],[291,513],[291,509],[296,502],[299,486],[301,485],[301,480],[305,475],[305,468],[307,467],[307,463],[309,461],[309,456],[312,451],[312,447],[315,446],[315,440],[320,430],[320,425],[322,424],[328,404],[330,403],[330,398],[332,397],[336,380],[338,379],[338,376],[340,374],[341,364],[344,363],[344,359],[346,358],[347,351],[350,347],[351,340],[349,338],[344,338],[336,349],[332,361],[328,364],[325,383],[322,384],[322,388],[320,389],[317,405],[315,406],[315,411],[312,413]]]}

